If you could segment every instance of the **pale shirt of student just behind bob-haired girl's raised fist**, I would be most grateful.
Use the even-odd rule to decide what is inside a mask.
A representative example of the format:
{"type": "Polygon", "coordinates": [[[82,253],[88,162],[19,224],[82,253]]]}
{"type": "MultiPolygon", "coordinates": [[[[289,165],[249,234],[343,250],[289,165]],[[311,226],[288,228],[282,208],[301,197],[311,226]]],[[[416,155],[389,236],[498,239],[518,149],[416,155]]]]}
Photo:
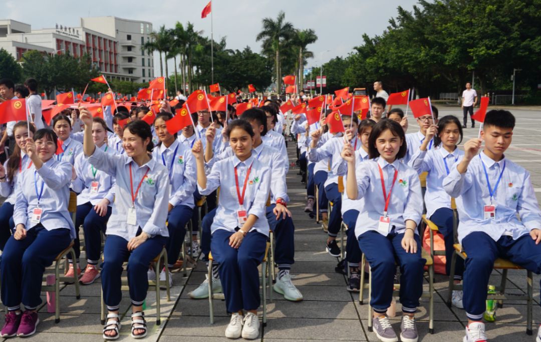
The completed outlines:
{"type": "MultiPolygon", "coordinates": [[[[362,146],[362,142],[357,136],[355,136],[349,143],[351,143],[351,146],[355,149],[355,151],[360,149],[362,146]]],[[[338,184],[338,174],[335,172],[338,169],[337,165],[344,161],[340,156],[342,149],[344,149],[344,137],[340,136],[329,139],[320,148],[313,148],[308,151],[309,161],[318,162],[328,158],[329,162],[331,163],[331,170],[329,170],[327,173],[325,187],[332,183],[338,184]]]]}

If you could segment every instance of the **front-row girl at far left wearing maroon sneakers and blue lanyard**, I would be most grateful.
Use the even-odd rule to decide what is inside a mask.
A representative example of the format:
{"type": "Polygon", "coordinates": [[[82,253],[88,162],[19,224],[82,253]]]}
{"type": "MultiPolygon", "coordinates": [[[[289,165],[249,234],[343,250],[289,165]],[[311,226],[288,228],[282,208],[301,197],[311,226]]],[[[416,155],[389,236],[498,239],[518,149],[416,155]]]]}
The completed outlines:
{"type": "Polygon", "coordinates": [[[39,129],[26,140],[32,165],[17,177],[15,233],[0,261],[2,302],[8,310],[0,332],[4,338],[36,332],[43,271],[75,238],[68,212],[72,167],[55,159],[56,148],[57,137],[50,129],[39,129]]]}

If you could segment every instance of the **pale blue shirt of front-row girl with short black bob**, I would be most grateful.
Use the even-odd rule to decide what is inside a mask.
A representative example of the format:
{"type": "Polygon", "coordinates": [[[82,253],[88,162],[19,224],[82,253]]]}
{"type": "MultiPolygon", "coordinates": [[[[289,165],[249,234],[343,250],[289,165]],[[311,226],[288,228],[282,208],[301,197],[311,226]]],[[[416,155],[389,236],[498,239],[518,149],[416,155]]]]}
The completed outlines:
{"type": "MultiPolygon", "coordinates": [[[[396,233],[404,233],[406,220],[412,220],[415,225],[421,221],[423,214],[423,196],[419,175],[405,163],[395,160],[392,164],[378,157],[374,160],[362,162],[359,169],[355,169],[357,178],[357,199],[359,202],[359,216],[355,224],[355,236],[359,237],[367,231],[376,231],[381,235],[391,232],[393,226],[396,233]],[[398,170],[397,180],[394,183],[389,207],[388,218],[391,224],[387,232],[378,230],[380,216],[383,216],[385,199],[381,188],[381,176],[378,165],[381,167],[385,180],[385,192],[388,195],[393,183],[394,171],[398,170]]],[[[347,192],[347,190],[346,190],[347,192]]],[[[418,234],[415,229],[415,234],[418,234]]]]}

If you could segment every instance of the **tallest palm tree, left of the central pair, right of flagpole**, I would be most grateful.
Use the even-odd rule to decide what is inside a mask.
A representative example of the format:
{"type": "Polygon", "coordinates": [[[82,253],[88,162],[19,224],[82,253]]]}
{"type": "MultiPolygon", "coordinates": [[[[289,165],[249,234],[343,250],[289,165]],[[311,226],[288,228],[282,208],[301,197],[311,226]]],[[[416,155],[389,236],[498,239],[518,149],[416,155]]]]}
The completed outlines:
{"type": "Polygon", "coordinates": [[[275,71],[276,71],[276,92],[280,93],[280,80],[281,80],[281,70],[280,70],[280,49],[281,45],[288,40],[291,40],[294,36],[295,29],[293,24],[290,22],[285,22],[286,14],[283,11],[280,11],[276,21],[272,18],[263,19],[263,29],[259,32],[256,37],[256,41],[263,41],[262,48],[263,51],[272,51],[275,58],[275,71]]]}

